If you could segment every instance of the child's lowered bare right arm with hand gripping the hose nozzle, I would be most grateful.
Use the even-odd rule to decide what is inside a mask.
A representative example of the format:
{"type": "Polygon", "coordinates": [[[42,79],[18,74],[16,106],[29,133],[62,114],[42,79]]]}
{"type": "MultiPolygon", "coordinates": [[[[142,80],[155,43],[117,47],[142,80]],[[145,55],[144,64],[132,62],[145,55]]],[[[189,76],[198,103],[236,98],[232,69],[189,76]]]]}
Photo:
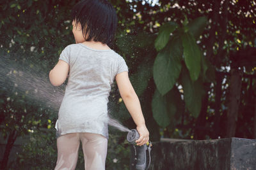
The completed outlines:
{"type": "Polygon", "coordinates": [[[132,119],[137,125],[137,131],[140,134],[140,138],[136,141],[137,145],[143,145],[148,142],[149,132],[145,125],[145,119],[141,111],[140,101],[136,92],[134,91],[131,81],[129,80],[128,72],[116,74],[116,83],[125,106],[132,119]]]}

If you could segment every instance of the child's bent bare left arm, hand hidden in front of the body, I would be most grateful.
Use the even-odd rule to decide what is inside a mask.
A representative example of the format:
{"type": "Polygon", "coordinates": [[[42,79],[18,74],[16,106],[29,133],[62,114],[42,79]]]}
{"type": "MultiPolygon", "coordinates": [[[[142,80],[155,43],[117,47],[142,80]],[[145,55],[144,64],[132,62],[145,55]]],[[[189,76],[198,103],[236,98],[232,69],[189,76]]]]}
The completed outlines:
{"type": "Polygon", "coordinates": [[[54,86],[59,86],[68,76],[69,65],[63,60],[59,60],[56,66],[50,71],[49,78],[54,86]]]}

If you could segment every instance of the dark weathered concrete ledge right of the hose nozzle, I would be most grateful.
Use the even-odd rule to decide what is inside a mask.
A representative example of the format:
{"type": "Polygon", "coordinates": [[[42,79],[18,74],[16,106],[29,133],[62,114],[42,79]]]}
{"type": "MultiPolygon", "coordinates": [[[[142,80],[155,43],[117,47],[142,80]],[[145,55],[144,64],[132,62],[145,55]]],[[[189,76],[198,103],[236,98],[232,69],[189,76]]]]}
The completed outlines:
{"type": "Polygon", "coordinates": [[[150,169],[256,169],[256,140],[172,140],[153,143],[150,169]]]}

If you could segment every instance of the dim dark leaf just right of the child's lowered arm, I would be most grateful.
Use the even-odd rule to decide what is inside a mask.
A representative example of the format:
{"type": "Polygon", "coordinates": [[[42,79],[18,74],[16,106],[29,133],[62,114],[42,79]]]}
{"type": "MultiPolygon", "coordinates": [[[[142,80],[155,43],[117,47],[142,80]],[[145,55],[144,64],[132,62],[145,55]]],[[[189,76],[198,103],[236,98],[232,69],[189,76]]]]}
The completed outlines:
{"type": "Polygon", "coordinates": [[[139,66],[136,74],[132,74],[131,76],[131,83],[134,87],[134,90],[138,96],[141,96],[143,94],[144,90],[148,86],[148,81],[150,80],[150,77],[152,76],[151,67],[148,66],[148,64],[142,64],[139,66]]]}

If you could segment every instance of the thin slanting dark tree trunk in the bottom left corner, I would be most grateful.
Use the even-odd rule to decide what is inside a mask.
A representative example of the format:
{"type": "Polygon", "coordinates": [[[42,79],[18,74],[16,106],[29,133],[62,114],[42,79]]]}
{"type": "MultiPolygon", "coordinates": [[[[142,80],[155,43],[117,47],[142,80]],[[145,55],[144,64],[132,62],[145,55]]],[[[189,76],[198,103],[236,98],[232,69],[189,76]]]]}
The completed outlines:
{"type": "Polygon", "coordinates": [[[17,131],[15,131],[15,129],[14,129],[8,136],[8,141],[5,146],[4,155],[3,155],[0,169],[3,169],[3,170],[7,169],[9,155],[10,155],[10,152],[12,150],[12,147],[13,147],[13,144],[14,144],[16,138],[17,138],[17,131]]]}

